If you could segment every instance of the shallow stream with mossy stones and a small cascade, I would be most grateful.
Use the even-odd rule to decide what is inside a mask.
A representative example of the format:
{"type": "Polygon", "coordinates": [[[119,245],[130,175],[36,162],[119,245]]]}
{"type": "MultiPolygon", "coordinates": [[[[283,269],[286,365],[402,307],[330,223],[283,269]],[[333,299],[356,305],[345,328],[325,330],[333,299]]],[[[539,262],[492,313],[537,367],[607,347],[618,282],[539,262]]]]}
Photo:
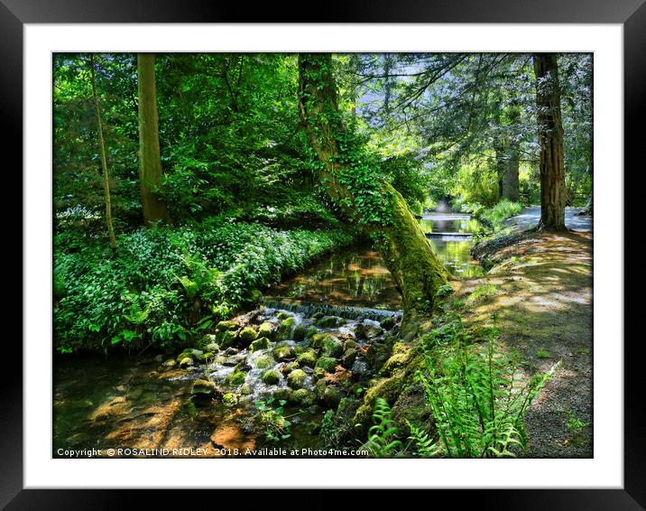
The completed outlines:
{"type": "MultiPolygon", "coordinates": [[[[469,253],[477,220],[436,213],[420,225],[451,273],[482,274],[469,253]]],[[[400,321],[401,296],[382,258],[353,246],[272,286],[254,311],[182,353],[57,358],[52,456],[273,457],[298,449],[300,457],[337,457],[325,451],[326,421],[334,410],[350,421],[400,321]]]]}

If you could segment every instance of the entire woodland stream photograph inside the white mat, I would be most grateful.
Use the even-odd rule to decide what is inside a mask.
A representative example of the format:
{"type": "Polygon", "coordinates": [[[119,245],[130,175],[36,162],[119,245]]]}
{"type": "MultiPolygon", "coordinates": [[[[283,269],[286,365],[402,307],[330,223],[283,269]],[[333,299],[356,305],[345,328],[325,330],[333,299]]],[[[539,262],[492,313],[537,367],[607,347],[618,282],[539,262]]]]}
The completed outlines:
{"type": "Polygon", "coordinates": [[[593,56],[53,53],[54,458],[592,458],[593,56]]]}

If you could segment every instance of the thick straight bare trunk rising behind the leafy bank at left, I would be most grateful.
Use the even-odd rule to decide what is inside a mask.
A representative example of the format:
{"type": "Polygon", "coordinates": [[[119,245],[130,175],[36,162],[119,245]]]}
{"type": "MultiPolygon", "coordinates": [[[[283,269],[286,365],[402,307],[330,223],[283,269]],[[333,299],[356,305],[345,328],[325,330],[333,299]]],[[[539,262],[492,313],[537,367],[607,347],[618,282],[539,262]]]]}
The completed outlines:
{"type": "Polygon", "coordinates": [[[139,188],[142,195],[143,223],[171,221],[166,205],[157,195],[162,184],[159,120],[155,90],[155,60],[152,53],[137,55],[139,89],[139,188]]]}

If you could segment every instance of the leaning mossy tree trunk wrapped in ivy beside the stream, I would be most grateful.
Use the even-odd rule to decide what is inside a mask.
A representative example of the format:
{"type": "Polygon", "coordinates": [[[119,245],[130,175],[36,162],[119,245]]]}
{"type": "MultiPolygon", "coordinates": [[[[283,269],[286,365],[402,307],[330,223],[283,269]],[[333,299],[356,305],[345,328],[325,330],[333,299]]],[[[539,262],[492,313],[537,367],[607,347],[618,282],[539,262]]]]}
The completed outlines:
{"type": "MultiPolygon", "coordinates": [[[[377,248],[399,288],[404,302],[404,321],[428,317],[432,312],[438,287],[447,283],[448,271],[430,248],[420,224],[411,214],[401,194],[387,182],[371,179],[355,186],[355,172],[348,146],[355,140],[347,134],[337,107],[337,89],[332,76],[330,54],[299,55],[300,118],[309,144],[321,165],[318,180],[346,218],[356,220],[376,240],[377,248]],[[374,188],[367,190],[367,187],[374,188]],[[378,195],[380,205],[387,205],[389,220],[366,221],[364,196],[378,195]]],[[[376,204],[375,202],[374,204],[376,204]]]]}

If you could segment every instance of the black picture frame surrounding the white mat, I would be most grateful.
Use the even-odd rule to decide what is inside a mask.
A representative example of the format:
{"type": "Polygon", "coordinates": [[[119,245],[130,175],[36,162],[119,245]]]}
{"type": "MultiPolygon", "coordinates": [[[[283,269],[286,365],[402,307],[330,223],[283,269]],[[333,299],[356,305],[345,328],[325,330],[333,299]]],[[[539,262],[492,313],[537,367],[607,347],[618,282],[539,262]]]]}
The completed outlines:
{"type": "MultiPolygon", "coordinates": [[[[370,3],[346,0],[326,2],[318,23],[622,23],[624,34],[624,164],[639,165],[644,118],[643,85],[646,82],[645,0],[414,0],[370,3]]],[[[5,135],[2,154],[17,156],[14,169],[22,168],[23,134],[23,24],[24,23],[308,23],[311,18],[296,7],[272,3],[248,5],[213,0],[187,4],[174,0],[0,0],[0,122],[5,135]],[[20,165],[20,167],[19,167],[20,165]]],[[[601,144],[595,141],[595,144],[601,144]]],[[[624,172],[624,178],[627,172],[624,172]]],[[[17,187],[22,189],[19,181],[17,187]]],[[[14,190],[17,190],[15,188],[14,190]]],[[[636,187],[635,187],[636,189],[636,187]]],[[[633,189],[633,193],[636,190],[633,189]]],[[[624,204],[628,197],[624,197],[624,204]]],[[[631,232],[626,228],[625,232],[631,232]]],[[[16,238],[17,239],[17,238],[16,238]]],[[[16,243],[17,245],[17,243],[16,243]]],[[[617,249],[625,250],[624,247],[617,249]]],[[[23,272],[27,271],[23,265],[23,272]]],[[[617,297],[622,300],[623,297],[617,297]]],[[[630,317],[624,300],[624,318],[630,317]]],[[[25,304],[28,305],[28,304],[25,304]]],[[[638,306],[638,305],[636,305],[638,306]]],[[[636,312],[636,311],[635,311],[636,312]]],[[[639,317],[637,315],[637,317],[639,317]]],[[[624,350],[624,485],[623,489],[478,489],[435,490],[466,508],[494,509],[644,509],[646,508],[646,422],[641,416],[643,379],[641,336],[623,342],[624,350]],[[460,492],[459,496],[454,492],[460,492]]],[[[16,361],[13,360],[15,364],[16,361]]],[[[0,507],[6,509],[114,509],[130,500],[133,490],[25,490],[23,489],[23,388],[22,366],[4,382],[0,413],[0,507]]],[[[73,481],[69,481],[73,485],[73,481]]],[[[195,491],[195,490],[191,490],[195,491]]],[[[219,490],[222,491],[222,490],[219,490]]],[[[246,491],[246,490],[245,490],[246,491]]],[[[317,490],[323,491],[323,490],[317,490]]],[[[334,492],[334,490],[329,490],[334,492]]],[[[248,496],[247,491],[246,495],[248,496]]],[[[382,498],[371,492],[372,498],[382,498]]],[[[167,492],[147,491],[146,506],[163,506],[167,492]]],[[[245,497],[248,498],[248,497],[245,497]]],[[[300,500],[300,497],[291,497],[300,500]]],[[[334,496],[304,497],[309,503],[334,502],[334,496]]],[[[196,503],[202,497],[196,497],[196,503]]],[[[248,503],[249,501],[246,500],[248,503]]],[[[200,505],[200,504],[198,504],[200,505]]],[[[311,507],[311,505],[308,505],[311,507]]],[[[244,506],[246,507],[246,506],[244,506]]]]}

